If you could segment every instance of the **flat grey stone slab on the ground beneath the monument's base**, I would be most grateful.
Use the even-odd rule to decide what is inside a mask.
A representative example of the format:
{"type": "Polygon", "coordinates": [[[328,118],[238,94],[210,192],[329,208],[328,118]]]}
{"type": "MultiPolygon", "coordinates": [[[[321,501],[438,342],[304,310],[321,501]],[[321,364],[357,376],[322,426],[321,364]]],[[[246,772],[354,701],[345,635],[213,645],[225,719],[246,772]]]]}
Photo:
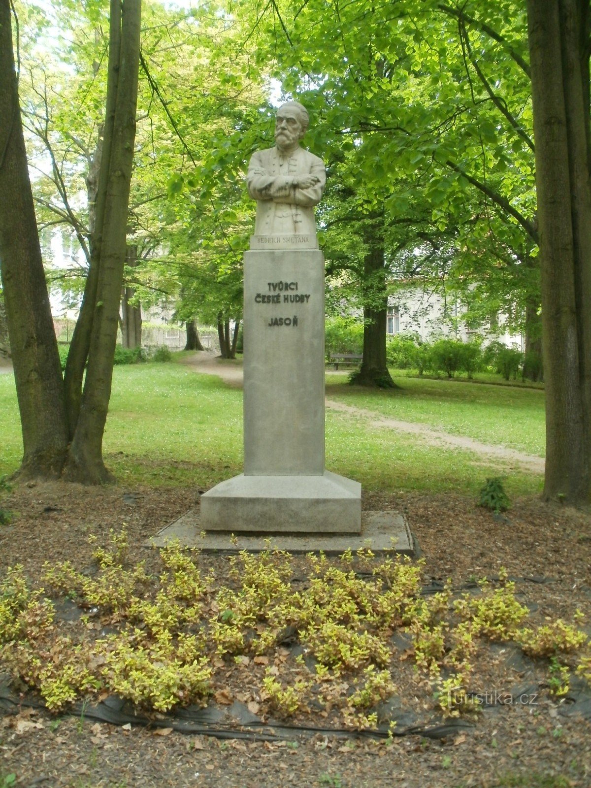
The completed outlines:
{"type": "Polygon", "coordinates": [[[361,534],[351,533],[227,533],[203,532],[199,523],[199,509],[191,509],[179,519],[158,531],[146,544],[164,547],[166,542],[178,539],[183,547],[196,547],[203,552],[229,552],[240,550],[262,552],[269,547],[293,553],[325,552],[340,555],[370,548],[373,552],[392,549],[407,556],[417,556],[418,546],[399,511],[362,511],[361,534]]]}

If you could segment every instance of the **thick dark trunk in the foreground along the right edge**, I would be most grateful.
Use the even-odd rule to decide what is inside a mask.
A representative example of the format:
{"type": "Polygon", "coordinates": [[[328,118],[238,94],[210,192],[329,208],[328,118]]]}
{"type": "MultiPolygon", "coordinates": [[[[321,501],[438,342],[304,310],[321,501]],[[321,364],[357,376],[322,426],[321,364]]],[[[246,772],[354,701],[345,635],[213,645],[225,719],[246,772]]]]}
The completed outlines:
{"type": "Polygon", "coordinates": [[[587,7],[528,0],[546,388],[545,497],[591,496],[587,7]]]}

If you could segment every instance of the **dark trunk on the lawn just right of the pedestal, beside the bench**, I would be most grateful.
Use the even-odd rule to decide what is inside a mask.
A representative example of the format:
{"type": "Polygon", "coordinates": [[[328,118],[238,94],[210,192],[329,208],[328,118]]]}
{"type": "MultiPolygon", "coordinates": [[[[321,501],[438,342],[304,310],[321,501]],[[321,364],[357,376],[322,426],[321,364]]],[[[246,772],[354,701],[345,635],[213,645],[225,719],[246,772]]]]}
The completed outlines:
{"type": "MultiPolygon", "coordinates": [[[[384,244],[372,238],[372,222],[366,233],[368,251],[363,261],[363,359],[351,383],[379,388],[396,388],[386,361],[388,294],[386,292],[384,244]]],[[[379,230],[378,230],[379,237],[379,230]]]]}

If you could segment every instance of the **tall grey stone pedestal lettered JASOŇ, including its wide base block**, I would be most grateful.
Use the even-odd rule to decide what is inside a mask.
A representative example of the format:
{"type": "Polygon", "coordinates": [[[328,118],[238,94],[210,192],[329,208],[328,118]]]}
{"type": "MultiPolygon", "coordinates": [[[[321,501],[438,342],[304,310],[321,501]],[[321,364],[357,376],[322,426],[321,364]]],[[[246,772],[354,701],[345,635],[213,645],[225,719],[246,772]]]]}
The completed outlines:
{"type": "Polygon", "coordinates": [[[246,252],[243,336],[244,473],[201,496],[201,526],[360,533],[361,485],[325,470],[322,252],[246,252]]]}

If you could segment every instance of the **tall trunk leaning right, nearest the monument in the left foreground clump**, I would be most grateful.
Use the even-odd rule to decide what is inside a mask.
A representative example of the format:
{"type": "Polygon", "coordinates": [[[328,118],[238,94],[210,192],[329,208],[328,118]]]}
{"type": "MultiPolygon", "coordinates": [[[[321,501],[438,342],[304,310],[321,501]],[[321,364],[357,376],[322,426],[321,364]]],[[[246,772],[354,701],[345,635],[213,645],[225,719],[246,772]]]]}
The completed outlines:
{"type": "MultiPolygon", "coordinates": [[[[68,478],[87,483],[110,479],[102,460],[102,435],[109,407],[113,356],[117,342],[119,303],[125,266],[129,191],[136,135],[137,83],[139,72],[140,0],[111,0],[111,55],[116,67],[109,72],[109,91],[116,92],[113,139],[107,158],[106,140],[101,162],[107,188],[102,225],[99,225],[100,192],[97,196],[97,237],[100,246],[96,300],[92,318],[88,366],[80,415],[66,468],[68,478]],[[108,198],[108,199],[107,199],[108,198]]],[[[107,106],[110,106],[109,100],[107,106]]],[[[109,121],[107,117],[107,122],[109,121]]]]}

